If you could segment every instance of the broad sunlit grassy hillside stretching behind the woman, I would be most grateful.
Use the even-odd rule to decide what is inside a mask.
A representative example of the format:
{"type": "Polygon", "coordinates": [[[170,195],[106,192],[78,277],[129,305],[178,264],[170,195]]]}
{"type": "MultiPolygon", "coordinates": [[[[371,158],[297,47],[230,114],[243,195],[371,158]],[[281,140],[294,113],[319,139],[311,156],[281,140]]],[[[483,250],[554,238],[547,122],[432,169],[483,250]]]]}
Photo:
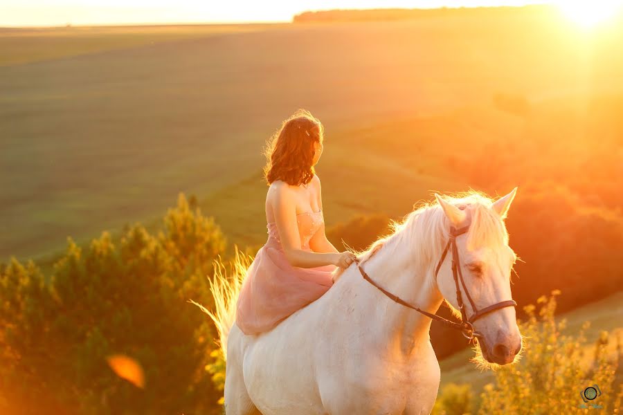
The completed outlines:
{"type": "Polygon", "coordinates": [[[464,190],[449,157],[521,122],[494,109],[498,93],[623,91],[623,37],[586,39],[525,15],[176,27],[3,37],[0,258],[148,222],[180,191],[197,194],[231,241],[261,243],[260,152],[298,107],[326,124],[318,172],[330,225],[464,190]],[[65,52],[42,55],[59,44],[65,52]]]}

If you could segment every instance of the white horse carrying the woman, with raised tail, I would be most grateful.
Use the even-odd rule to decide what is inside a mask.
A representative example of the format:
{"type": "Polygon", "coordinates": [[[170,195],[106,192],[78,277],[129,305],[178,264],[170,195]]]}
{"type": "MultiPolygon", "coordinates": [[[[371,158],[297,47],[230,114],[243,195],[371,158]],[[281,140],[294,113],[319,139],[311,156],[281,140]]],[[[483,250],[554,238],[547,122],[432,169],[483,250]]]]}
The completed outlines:
{"type": "MultiPolygon", "coordinates": [[[[510,300],[516,256],[503,219],[515,194],[516,188],[497,201],[476,192],[435,194],[438,204],[423,205],[392,223],[394,232],[361,253],[360,264],[376,284],[409,304],[435,313],[445,299],[460,316],[452,252],[436,277],[435,268],[451,226],[469,226],[454,239],[468,291],[460,288],[462,298],[471,295],[480,309],[510,300]]],[[[383,295],[356,264],[334,277],[325,295],[260,335],[244,335],[233,321],[240,281],[229,288],[213,286],[213,318],[226,351],[227,415],[431,412],[440,382],[428,334],[431,318],[383,295]],[[218,295],[227,289],[228,295],[218,295]]],[[[464,306],[468,316],[477,311],[471,300],[464,306]]],[[[489,311],[473,329],[485,360],[514,361],[521,335],[512,306],[489,311]]]]}

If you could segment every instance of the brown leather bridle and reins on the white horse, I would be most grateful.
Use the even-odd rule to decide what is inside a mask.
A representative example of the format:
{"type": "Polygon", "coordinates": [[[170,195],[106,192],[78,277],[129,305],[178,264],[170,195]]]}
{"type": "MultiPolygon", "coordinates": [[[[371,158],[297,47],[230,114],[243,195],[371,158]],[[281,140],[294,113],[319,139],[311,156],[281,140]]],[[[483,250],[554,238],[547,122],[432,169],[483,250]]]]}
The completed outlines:
{"type": "Polygon", "coordinates": [[[365,279],[367,282],[369,282],[373,286],[379,288],[381,293],[385,294],[387,297],[392,299],[394,302],[397,302],[398,304],[402,306],[412,308],[415,311],[419,311],[419,313],[422,313],[428,317],[431,317],[433,320],[442,322],[444,326],[446,327],[450,327],[451,329],[456,329],[460,331],[462,335],[464,335],[464,337],[469,340],[472,340],[473,338],[482,337],[481,333],[474,331],[473,322],[476,322],[476,320],[483,317],[484,315],[487,315],[493,311],[499,310],[500,308],[515,307],[517,306],[517,303],[514,300],[509,299],[507,301],[498,302],[491,306],[481,308],[480,310],[476,308],[476,304],[474,304],[473,299],[471,299],[471,295],[469,295],[469,291],[467,291],[467,286],[465,286],[465,282],[463,280],[463,274],[461,273],[461,267],[459,264],[458,248],[456,247],[456,237],[464,234],[465,232],[467,232],[468,229],[469,229],[469,225],[464,226],[463,228],[460,228],[458,230],[454,228],[453,226],[451,226],[450,237],[448,239],[448,243],[446,243],[446,248],[444,249],[444,253],[442,254],[442,257],[439,260],[439,263],[437,264],[437,268],[435,268],[435,279],[436,279],[437,273],[439,273],[439,269],[441,268],[444,262],[444,259],[446,258],[446,254],[448,253],[448,250],[451,250],[452,251],[452,275],[454,277],[454,283],[456,286],[456,302],[458,303],[458,307],[461,311],[462,321],[460,323],[447,320],[444,317],[440,317],[439,315],[436,315],[433,313],[428,313],[428,311],[425,311],[425,310],[422,310],[422,308],[413,306],[409,304],[408,302],[404,301],[404,299],[401,299],[400,297],[398,297],[397,295],[390,293],[385,288],[379,286],[377,283],[372,281],[370,276],[368,276],[368,274],[365,273],[363,268],[361,268],[361,262],[359,262],[358,260],[356,261],[357,268],[359,268],[359,272],[361,273],[361,276],[363,277],[363,279],[365,279]],[[474,312],[473,315],[471,315],[471,317],[467,317],[467,311],[465,311],[465,306],[463,304],[463,297],[462,297],[462,293],[459,287],[459,280],[461,282],[461,285],[463,286],[463,290],[465,291],[465,296],[469,300],[469,304],[471,304],[471,309],[474,312]]]}

